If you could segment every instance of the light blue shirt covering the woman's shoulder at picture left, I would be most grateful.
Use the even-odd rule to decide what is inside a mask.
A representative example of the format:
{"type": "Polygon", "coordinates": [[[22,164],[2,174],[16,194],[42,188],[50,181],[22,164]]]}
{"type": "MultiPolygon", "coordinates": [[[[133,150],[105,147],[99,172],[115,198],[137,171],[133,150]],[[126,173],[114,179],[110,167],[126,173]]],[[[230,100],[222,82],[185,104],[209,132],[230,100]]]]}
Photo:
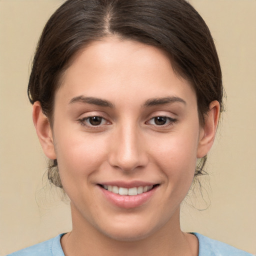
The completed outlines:
{"type": "Polygon", "coordinates": [[[59,234],[47,241],[18,250],[6,256],[64,256],[60,245],[62,235],[63,234],[59,234]]]}

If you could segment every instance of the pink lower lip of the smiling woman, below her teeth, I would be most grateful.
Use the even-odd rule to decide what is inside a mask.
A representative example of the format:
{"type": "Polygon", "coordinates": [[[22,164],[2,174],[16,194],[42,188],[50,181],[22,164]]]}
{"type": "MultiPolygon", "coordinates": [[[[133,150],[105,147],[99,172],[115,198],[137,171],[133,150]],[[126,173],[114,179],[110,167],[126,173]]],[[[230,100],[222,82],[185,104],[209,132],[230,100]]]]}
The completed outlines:
{"type": "Polygon", "coordinates": [[[154,194],[155,190],[158,186],[153,187],[151,190],[137,194],[137,195],[120,195],[112,193],[103,187],[99,186],[101,188],[101,191],[103,192],[104,196],[107,198],[108,201],[110,201],[112,204],[120,207],[120,208],[135,208],[143,205],[146,203],[154,194]]]}

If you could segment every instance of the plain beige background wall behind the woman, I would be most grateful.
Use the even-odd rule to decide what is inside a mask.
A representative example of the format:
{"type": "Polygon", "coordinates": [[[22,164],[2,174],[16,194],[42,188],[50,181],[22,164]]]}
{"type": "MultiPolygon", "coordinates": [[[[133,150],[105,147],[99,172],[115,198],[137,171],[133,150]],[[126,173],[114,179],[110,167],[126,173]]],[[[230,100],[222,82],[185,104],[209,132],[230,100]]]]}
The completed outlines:
{"type": "MultiPolygon", "coordinates": [[[[42,181],[46,160],[26,97],[36,41],[60,2],[0,0],[0,255],[71,228],[68,203],[42,181]]],[[[181,224],[256,254],[256,0],[190,2],[215,39],[227,100],[203,181],[206,202],[188,199],[181,224]]]]}

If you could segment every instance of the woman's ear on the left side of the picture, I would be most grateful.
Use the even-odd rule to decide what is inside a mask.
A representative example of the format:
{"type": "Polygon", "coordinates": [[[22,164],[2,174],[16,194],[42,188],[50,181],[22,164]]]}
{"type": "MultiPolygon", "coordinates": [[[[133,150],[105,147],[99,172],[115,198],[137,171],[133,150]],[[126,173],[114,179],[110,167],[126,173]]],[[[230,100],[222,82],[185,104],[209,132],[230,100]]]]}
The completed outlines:
{"type": "Polygon", "coordinates": [[[44,154],[50,159],[56,159],[49,119],[43,114],[39,101],[33,104],[33,123],[44,154]]]}

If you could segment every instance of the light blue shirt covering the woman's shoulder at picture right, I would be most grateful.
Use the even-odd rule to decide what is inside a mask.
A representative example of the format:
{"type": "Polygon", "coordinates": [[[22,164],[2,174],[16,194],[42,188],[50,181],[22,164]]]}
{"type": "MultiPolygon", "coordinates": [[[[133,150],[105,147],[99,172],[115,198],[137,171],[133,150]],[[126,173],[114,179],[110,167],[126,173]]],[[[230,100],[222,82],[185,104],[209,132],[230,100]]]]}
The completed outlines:
{"type": "Polygon", "coordinates": [[[199,233],[193,233],[199,241],[198,256],[253,256],[226,243],[213,240],[199,233]]]}

